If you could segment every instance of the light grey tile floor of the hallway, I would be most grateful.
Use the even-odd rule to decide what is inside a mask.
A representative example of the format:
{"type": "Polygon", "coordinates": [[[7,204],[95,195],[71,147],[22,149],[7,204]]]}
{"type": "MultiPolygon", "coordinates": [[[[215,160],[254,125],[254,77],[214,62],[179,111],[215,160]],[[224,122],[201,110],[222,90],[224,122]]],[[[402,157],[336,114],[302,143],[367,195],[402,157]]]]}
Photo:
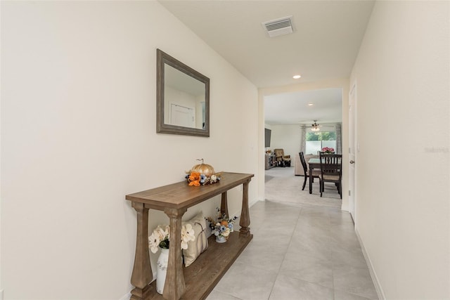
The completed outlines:
{"type": "Polygon", "coordinates": [[[266,200],[250,218],[252,242],[207,300],[378,299],[347,212],[266,200]]]}

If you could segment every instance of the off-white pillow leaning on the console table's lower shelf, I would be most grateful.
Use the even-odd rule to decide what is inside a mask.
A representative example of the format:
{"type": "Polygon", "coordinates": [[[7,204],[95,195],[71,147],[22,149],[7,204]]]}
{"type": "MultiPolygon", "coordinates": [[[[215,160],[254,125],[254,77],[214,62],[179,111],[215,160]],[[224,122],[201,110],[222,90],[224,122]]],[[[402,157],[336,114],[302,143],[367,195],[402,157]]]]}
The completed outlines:
{"type": "Polygon", "coordinates": [[[183,225],[191,224],[195,240],[188,242],[188,249],[183,249],[184,266],[190,266],[197,257],[204,252],[208,247],[208,239],[206,236],[206,221],[203,217],[203,212],[200,211],[189,221],[184,221],[183,225]]]}

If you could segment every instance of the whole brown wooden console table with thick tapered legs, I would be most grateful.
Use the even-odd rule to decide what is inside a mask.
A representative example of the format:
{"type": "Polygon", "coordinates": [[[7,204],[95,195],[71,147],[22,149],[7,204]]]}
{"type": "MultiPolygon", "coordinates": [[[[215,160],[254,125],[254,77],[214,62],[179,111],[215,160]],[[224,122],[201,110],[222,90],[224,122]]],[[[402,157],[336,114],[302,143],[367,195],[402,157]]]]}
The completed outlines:
{"type": "Polygon", "coordinates": [[[248,212],[248,185],[253,174],[223,172],[219,183],[189,186],[186,181],[144,190],[126,196],[136,209],[137,236],[133,273],[131,274],[130,299],[205,299],[220,278],[245,249],[253,235],[250,234],[248,212]],[[221,211],[228,215],[227,190],[243,185],[242,211],[239,233],[231,233],[224,244],[210,239],[208,249],[198,259],[184,268],[181,262],[181,217],[188,207],[221,194],[221,211]],[[148,209],[164,211],[169,216],[169,262],[163,296],[155,289],[148,252],[148,209]],[[150,282],[152,282],[150,284],[150,282]]]}

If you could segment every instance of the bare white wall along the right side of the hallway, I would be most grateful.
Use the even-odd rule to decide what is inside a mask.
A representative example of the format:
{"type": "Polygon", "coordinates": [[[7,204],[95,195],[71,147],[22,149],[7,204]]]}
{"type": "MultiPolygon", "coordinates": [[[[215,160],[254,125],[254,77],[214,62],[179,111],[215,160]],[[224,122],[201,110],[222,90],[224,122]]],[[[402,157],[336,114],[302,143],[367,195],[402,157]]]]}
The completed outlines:
{"type": "Polygon", "coordinates": [[[352,72],[356,230],[385,299],[450,299],[449,20],[377,1],[352,72]]]}

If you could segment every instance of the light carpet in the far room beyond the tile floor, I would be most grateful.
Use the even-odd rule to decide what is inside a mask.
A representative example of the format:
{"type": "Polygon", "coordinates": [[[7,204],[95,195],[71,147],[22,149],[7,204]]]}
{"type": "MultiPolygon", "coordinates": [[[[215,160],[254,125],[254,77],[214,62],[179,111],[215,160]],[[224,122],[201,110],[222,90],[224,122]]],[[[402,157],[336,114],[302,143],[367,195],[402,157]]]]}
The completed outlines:
{"type": "Polygon", "coordinates": [[[340,208],[342,200],[334,183],[326,183],[325,191],[319,192],[319,179],[313,183],[309,194],[309,178],[302,190],[303,176],[295,176],[293,167],[275,167],[265,171],[265,197],[273,202],[283,202],[296,207],[321,206],[340,208]]]}

